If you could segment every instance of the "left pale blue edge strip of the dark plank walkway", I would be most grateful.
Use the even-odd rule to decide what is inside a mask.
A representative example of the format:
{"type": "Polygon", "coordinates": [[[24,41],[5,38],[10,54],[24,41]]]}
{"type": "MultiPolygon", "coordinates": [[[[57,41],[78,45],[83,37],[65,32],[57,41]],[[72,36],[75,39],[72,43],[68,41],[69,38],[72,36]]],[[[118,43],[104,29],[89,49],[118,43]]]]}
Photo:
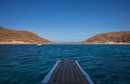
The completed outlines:
{"type": "Polygon", "coordinates": [[[58,61],[54,65],[54,67],[49,71],[49,73],[48,73],[48,74],[46,75],[46,78],[43,79],[42,84],[48,84],[48,82],[49,82],[52,73],[54,72],[54,70],[55,70],[55,68],[56,68],[56,66],[58,65],[60,61],[61,61],[61,60],[58,60],[58,61]]]}

